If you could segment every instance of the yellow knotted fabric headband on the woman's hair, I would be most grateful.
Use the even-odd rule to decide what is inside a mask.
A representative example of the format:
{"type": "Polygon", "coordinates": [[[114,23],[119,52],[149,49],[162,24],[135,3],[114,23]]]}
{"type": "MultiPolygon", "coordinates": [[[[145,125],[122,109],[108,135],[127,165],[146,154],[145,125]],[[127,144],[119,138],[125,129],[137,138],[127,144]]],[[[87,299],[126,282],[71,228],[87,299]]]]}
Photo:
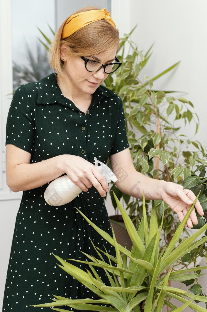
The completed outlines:
{"type": "Polygon", "coordinates": [[[81,12],[71,15],[71,17],[68,18],[63,28],[62,39],[69,37],[78,29],[81,29],[82,27],[85,27],[93,22],[100,21],[101,19],[105,19],[113,27],[116,28],[116,25],[113,22],[109,11],[107,11],[106,9],[90,10],[87,12],[81,12]]]}

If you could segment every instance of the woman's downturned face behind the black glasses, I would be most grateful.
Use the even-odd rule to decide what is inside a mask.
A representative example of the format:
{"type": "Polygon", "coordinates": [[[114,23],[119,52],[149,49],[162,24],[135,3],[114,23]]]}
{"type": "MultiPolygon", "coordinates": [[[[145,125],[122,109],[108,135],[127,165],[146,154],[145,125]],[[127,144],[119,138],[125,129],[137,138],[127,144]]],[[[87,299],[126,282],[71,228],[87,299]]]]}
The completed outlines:
{"type": "MultiPolygon", "coordinates": [[[[106,52],[101,52],[93,56],[83,55],[87,59],[92,59],[100,62],[104,59],[106,52]]],[[[110,53],[104,64],[112,63],[115,61],[116,49],[110,53]]],[[[67,75],[66,83],[67,87],[71,87],[74,91],[77,91],[79,95],[92,95],[101,83],[106,79],[109,74],[104,72],[101,68],[95,73],[90,73],[85,68],[85,63],[79,56],[66,56],[63,51],[60,53],[61,58],[64,59],[64,71],[67,75]]]]}

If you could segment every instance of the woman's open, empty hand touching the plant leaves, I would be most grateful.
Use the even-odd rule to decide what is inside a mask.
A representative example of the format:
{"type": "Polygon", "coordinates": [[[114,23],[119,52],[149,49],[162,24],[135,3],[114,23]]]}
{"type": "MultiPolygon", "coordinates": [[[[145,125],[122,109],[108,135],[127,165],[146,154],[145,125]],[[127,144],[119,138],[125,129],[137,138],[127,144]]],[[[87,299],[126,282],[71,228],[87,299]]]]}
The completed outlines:
{"type": "MultiPolygon", "coordinates": [[[[180,222],[183,220],[196,197],[191,190],[183,189],[181,185],[177,185],[172,182],[167,182],[164,184],[161,196],[164,202],[166,202],[166,204],[174,212],[176,212],[180,222]]],[[[195,208],[200,216],[204,215],[203,208],[201,207],[198,200],[195,203],[195,208]]],[[[195,208],[193,208],[193,211],[191,212],[191,215],[186,222],[186,227],[192,228],[193,224],[198,224],[195,208]]]]}

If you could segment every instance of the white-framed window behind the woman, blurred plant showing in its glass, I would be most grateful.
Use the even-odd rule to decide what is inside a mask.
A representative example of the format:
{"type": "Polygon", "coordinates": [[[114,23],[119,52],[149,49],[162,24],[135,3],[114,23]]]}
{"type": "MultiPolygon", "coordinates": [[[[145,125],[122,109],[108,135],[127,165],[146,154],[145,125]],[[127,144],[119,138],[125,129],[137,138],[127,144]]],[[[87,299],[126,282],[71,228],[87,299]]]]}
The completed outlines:
{"type": "MultiPolygon", "coordinates": [[[[21,192],[9,190],[5,177],[6,121],[12,93],[18,85],[38,81],[50,71],[37,27],[52,40],[49,26],[56,31],[70,14],[90,5],[90,0],[0,0],[0,200],[21,198],[21,192]]],[[[96,6],[110,11],[111,1],[97,0],[96,6]]]]}

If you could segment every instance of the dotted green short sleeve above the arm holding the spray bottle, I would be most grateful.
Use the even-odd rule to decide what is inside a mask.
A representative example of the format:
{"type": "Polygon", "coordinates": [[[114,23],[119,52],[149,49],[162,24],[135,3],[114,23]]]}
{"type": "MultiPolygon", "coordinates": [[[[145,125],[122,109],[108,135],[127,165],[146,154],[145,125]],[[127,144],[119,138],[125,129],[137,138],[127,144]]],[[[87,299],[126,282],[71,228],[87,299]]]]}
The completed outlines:
{"type": "Polygon", "coordinates": [[[26,85],[21,85],[15,92],[9,108],[6,128],[6,144],[13,144],[26,152],[32,152],[34,142],[33,97],[26,85]]]}

